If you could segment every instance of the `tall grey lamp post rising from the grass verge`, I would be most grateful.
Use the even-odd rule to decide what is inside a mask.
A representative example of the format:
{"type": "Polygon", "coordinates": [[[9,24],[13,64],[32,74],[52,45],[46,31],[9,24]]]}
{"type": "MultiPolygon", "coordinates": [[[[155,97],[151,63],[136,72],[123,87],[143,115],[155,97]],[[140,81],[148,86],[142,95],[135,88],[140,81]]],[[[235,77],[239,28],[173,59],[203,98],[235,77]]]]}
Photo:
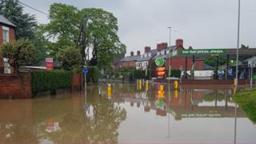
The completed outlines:
{"type": "Polygon", "coordinates": [[[238,49],[239,49],[239,40],[240,40],[240,2],[241,0],[238,0],[238,43],[237,43],[237,66],[236,66],[236,74],[235,74],[235,80],[234,80],[234,93],[238,90],[238,49]]]}

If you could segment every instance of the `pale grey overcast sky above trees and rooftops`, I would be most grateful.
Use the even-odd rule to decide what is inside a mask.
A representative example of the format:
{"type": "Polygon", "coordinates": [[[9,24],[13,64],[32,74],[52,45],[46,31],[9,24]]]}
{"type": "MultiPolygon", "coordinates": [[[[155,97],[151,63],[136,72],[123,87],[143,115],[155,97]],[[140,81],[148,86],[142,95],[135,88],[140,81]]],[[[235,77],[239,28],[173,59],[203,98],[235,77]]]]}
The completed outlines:
{"type": "MultiPolygon", "coordinates": [[[[20,0],[48,13],[50,4],[62,2],[77,6],[97,7],[118,18],[118,35],[131,50],[155,48],[157,42],[182,38],[186,47],[235,48],[237,42],[238,0],[20,0]]],[[[256,47],[256,1],[241,0],[241,43],[256,47]]],[[[47,23],[46,15],[36,14],[39,23],[47,23]]]]}

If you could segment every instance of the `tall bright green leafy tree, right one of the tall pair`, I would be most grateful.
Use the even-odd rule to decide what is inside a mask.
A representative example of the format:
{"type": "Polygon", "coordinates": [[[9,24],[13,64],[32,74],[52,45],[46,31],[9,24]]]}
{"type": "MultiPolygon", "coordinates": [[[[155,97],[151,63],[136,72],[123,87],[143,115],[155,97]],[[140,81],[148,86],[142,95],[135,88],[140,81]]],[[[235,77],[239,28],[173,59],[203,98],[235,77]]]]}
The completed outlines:
{"type": "Polygon", "coordinates": [[[107,67],[114,60],[114,55],[126,53],[126,46],[118,38],[118,20],[113,14],[90,8],[81,10],[80,17],[86,26],[86,46],[81,46],[82,53],[92,48],[90,65],[107,67]]]}

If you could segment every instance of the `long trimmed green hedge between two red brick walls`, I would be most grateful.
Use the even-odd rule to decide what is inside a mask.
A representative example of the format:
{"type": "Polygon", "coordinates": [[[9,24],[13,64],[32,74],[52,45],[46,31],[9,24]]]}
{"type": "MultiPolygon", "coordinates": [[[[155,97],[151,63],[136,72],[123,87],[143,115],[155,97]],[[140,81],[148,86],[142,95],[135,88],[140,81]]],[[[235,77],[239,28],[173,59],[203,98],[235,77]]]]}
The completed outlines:
{"type": "Polygon", "coordinates": [[[66,70],[37,70],[31,74],[32,93],[70,88],[72,73],[66,70]]]}

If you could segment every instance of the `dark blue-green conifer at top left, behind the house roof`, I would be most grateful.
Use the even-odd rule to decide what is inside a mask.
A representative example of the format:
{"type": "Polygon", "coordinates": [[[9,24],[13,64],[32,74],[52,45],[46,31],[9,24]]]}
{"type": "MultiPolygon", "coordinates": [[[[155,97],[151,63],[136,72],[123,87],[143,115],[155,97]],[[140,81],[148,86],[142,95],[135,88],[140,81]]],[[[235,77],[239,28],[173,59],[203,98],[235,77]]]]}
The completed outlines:
{"type": "Polygon", "coordinates": [[[34,29],[37,26],[34,15],[24,14],[23,7],[18,0],[2,0],[0,2],[0,14],[4,15],[16,27],[16,38],[34,39],[34,29]]]}

